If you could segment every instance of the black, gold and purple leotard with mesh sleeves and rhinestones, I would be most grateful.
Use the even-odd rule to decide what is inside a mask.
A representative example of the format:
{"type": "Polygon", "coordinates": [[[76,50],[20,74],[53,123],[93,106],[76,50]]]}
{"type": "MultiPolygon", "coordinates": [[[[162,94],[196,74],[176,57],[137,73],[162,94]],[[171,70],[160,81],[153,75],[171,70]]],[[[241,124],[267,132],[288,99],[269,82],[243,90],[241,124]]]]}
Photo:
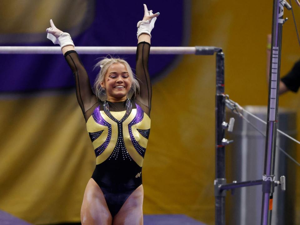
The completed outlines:
{"type": "Polygon", "coordinates": [[[76,83],[76,95],[96,154],[92,178],[115,216],[129,195],[142,184],[142,165],[150,133],[150,44],[138,43],[136,75],[140,92],[125,102],[100,101],[94,95],[76,51],[65,53],[76,83]]]}

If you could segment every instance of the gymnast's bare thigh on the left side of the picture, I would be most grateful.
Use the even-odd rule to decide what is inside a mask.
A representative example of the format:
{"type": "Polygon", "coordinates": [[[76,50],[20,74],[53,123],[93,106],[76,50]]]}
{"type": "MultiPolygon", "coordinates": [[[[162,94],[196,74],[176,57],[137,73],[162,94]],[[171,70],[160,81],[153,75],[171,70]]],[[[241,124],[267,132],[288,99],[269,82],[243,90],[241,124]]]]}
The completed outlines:
{"type": "Polygon", "coordinates": [[[84,191],[81,206],[81,223],[111,225],[112,216],[108,210],[103,192],[98,184],[91,178],[84,191]]]}

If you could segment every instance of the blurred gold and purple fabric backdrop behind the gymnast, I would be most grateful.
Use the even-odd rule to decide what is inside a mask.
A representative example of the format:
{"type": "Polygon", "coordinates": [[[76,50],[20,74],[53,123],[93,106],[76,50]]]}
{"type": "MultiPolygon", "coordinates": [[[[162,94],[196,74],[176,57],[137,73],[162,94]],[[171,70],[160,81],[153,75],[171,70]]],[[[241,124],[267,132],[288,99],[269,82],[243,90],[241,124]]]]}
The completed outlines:
{"type": "MultiPolygon", "coordinates": [[[[152,46],[222,47],[225,93],[240,105],[267,105],[272,0],[2,0],[0,45],[53,46],[45,32],[52,18],[71,34],[75,49],[135,46],[143,3],[160,12],[152,46]]],[[[300,8],[292,3],[300,23],[300,8]]],[[[292,13],[284,12],[289,20],[283,26],[282,76],[300,53],[292,13]]],[[[99,57],[81,55],[92,84],[99,57]]],[[[135,67],[135,56],[120,57],[135,67]]],[[[95,155],[73,74],[63,55],[0,55],[0,62],[0,209],[35,224],[80,222],[95,155]]],[[[144,213],[186,214],[214,224],[215,56],[151,55],[149,69],[153,98],[144,213]]],[[[297,111],[299,118],[300,93],[282,95],[279,106],[297,111]]],[[[299,177],[299,168],[295,173],[299,177]]],[[[294,185],[298,224],[299,179],[294,185]]]]}

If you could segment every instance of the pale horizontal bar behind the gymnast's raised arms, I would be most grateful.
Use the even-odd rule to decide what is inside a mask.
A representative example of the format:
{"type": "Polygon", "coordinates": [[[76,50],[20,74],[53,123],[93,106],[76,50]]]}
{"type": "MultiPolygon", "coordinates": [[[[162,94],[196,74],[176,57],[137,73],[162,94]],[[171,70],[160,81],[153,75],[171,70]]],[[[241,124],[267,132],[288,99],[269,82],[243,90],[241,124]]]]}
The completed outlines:
{"type": "MultiPolygon", "coordinates": [[[[75,47],[79,54],[135,54],[137,47],[75,47]]],[[[196,54],[213,55],[220,48],[213,46],[195,47],[151,47],[150,54],[196,54]]],[[[61,54],[60,47],[47,46],[0,46],[0,54],[61,54]]]]}

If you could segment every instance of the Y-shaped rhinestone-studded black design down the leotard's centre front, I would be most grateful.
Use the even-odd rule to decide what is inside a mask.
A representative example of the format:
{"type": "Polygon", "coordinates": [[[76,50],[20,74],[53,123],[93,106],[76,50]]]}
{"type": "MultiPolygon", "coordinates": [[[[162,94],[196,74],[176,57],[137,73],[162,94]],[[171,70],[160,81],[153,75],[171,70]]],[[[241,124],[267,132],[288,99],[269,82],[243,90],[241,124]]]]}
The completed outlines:
{"type": "Polygon", "coordinates": [[[127,149],[125,147],[124,138],[123,138],[123,121],[128,118],[128,116],[130,115],[130,113],[132,111],[131,101],[129,99],[127,99],[127,101],[126,101],[126,113],[125,113],[125,115],[123,116],[123,118],[121,120],[117,120],[110,113],[108,102],[105,101],[103,103],[103,109],[104,109],[104,113],[110,119],[112,119],[114,122],[116,122],[118,124],[118,140],[117,140],[116,146],[113,149],[113,152],[109,156],[108,160],[110,160],[110,159],[117,159],[118,156],[119,156],[119,153],[121,152],[123,160],[129,159],[131,161],[132,158],[128,154],[128,151],[127,151],[127,149]]]}

